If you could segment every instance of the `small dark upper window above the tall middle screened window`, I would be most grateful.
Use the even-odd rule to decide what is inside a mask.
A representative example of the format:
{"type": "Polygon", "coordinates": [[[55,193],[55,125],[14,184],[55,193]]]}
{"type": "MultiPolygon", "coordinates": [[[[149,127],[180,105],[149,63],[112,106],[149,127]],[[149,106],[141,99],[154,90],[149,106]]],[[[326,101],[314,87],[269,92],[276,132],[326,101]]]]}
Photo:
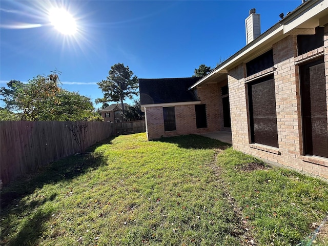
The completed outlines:
{"type": "Polygon", "coordinates": [[[247,76],[273,67],[273,51],[269,50],[246,64],[247,76]]]}

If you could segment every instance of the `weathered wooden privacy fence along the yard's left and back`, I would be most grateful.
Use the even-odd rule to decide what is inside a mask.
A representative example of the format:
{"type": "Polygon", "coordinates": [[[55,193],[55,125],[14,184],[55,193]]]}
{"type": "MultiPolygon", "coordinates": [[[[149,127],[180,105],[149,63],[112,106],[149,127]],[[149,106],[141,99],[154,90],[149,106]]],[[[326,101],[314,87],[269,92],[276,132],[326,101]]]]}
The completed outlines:
{"type": "MultiPolygon", "coordinates": [[[[51,161],[80,152],[65,121],[0,121],[0,171],[4,184],[51,161]]],[[[86,148],[111,136],[146,131],[145,120],[89,121],[86,148]]]]}

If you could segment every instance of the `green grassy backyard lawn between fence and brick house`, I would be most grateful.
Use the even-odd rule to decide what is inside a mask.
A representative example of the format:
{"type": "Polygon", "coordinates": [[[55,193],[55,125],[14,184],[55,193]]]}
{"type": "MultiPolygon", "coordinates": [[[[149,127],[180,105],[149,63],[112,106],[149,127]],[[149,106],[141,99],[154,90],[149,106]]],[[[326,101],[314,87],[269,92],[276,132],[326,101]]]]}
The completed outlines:
{"type": "Polygon", "coordinates": [[[220,141],[119,136],[1,191],[1,245],[327,245],[328,185],[220,141]]]}

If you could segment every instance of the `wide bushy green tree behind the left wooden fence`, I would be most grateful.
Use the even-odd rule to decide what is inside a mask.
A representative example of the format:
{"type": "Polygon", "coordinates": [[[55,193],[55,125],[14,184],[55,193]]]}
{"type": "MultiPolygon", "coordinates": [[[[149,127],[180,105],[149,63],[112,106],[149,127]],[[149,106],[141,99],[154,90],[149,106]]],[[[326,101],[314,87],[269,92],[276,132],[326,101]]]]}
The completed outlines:
{"type": "Polygon", "coordinates": [[[93,116],[89,97],[61,89],[59,83],[56,72],[37,75],[27,84],[11,80],[8,89],[0,88],[0,95],[5,108],[19,116],[19,120],[86,120],[93,116]]]}

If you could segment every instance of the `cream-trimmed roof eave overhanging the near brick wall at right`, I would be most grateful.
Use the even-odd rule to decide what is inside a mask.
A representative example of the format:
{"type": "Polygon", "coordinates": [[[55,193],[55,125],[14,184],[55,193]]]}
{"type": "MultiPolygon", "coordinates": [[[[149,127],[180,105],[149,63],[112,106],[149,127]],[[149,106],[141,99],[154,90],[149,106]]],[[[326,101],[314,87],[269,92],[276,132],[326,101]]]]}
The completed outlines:
{"type": "Polygon", "coordinates": [[[189,89],[194,89],[201,84],[211,83],[227,76],[228,70],[240,63],[247,63],[258,55],[272,49],[274,43],[288,35],[308,34],[307,31],[326,24],[327,16],[328,0],[304,2],[253,42],[223,61],[208,75],[200,78],[189,89]]]}

